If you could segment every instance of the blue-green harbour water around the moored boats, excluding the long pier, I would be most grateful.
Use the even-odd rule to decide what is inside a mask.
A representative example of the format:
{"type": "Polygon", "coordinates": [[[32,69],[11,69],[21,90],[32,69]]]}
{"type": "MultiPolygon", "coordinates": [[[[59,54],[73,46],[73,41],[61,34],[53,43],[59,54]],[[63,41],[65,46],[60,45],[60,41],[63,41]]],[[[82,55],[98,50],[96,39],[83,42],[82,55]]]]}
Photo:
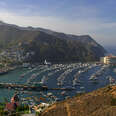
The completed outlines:
{"type": "Polygon", "coordinates": [[[13,89],[3,89],[0,88],[0,102],[4,101],[5,98],[11,99],[13,94],[17,91],[20,93],[20,98],[32,97],[39,101],[40,97],[44,100],[50,101],[47,96],[48,93],[52,93],[53,96],[59,98],[60,100],[66,97],[75,96],[78,92],[91,92],[101,87],[105,87],[110,84],[109,80],[106,78],[111,76],[114,80],[116,79],[115,67],[102,66],[90,64],[89,66],[78,67],[78,64],[65,64],[65,65],[52,65],[45,66],[41,65],[33,69],[19,68],[14,71],[9,72],[5,75],[0,75],[0,82],[4,83],[17,83],[25,84],[28,82],[43,82],[48,88],[63,88],[63,87],[74,87],[75,90],[72,91],[61,91],[61,90],[49,90],[49,91],[17,91],[13,89]],[[78,72],[85,70],[90,67],[87,71],[78,72]],[[103,71],[100,76],[97,76],[97,83],[90,82],[89,78],[100,71],[103,71]],[[73,85],[74,79],[79,79],[80,83],[77,86],[73,85]],[[58,81],[59,80],[59,81],[58,81]],[[62,82],[62,85],[58,85],[58,82],[62,82]],[[62,94],[64,92],[65,94],[62,94]]]}

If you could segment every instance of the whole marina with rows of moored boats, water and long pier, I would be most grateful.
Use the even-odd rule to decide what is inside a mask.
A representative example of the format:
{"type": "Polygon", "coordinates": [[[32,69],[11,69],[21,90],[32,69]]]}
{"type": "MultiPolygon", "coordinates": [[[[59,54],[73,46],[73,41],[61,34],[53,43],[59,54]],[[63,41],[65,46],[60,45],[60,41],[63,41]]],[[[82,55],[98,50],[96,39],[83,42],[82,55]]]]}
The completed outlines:
{"type": "Polygon", "coordinates": [[[96,63],[37,65],[0,75],[0,100],[18,92],[26,97],[60,101],[115,84],[115,67],[96,63]],[[49,95],[51,94],[51,95],[49,95]],[[50,96],[50,98],[48,98],[50,96]]]}

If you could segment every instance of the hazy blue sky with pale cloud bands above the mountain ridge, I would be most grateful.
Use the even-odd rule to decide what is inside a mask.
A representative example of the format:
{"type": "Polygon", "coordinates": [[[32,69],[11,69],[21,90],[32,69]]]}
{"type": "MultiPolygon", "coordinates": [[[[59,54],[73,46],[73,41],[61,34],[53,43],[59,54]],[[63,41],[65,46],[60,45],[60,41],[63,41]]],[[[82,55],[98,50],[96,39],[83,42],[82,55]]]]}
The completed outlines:
{"type": "Polygon", "coordinates": [[[0,20],[116,43],[116,0],[0,0],[0,20]]]}

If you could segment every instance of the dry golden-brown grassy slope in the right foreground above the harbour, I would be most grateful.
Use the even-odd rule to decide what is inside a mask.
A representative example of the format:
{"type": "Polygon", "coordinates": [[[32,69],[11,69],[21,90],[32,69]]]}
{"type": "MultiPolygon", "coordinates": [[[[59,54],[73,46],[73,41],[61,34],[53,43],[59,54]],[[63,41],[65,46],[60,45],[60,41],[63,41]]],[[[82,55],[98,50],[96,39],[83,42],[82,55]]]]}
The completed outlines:
{"type": "Polygon", "coordinates": [[[56,103],[41,116],[116,116],[116,86],[56,103]]]}

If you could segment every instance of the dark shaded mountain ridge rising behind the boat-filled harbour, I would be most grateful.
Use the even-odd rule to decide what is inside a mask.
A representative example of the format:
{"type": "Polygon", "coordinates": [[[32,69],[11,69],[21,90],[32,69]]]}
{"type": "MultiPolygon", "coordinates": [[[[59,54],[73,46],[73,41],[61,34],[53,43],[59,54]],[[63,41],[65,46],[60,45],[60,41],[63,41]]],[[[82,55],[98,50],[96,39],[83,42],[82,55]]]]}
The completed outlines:
{"type": "Polygon", "coordinates": [[[96,61],[106,52],[89,35],[70,35],[42,28],[19,27],[0,22],[0,48],[21,47],[34,52],[33,62],[96,61]],[[20,46],[19,46],[20,44],[20,46]]]}

